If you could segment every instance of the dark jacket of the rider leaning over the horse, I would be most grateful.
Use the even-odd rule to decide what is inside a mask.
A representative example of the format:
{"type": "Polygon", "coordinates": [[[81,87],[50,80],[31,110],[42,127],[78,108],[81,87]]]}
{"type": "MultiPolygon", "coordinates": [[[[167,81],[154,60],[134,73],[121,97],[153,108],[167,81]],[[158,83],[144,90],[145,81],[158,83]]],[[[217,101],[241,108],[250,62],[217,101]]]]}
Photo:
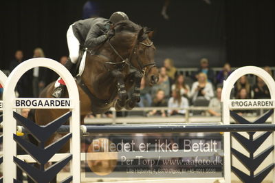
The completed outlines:
{"type": "Polygon", "coordinates": [[[80,45],[95,47],[107,39],[110,22],[108,19],[97,17],[76,21],[72,27],[80,45]]]}

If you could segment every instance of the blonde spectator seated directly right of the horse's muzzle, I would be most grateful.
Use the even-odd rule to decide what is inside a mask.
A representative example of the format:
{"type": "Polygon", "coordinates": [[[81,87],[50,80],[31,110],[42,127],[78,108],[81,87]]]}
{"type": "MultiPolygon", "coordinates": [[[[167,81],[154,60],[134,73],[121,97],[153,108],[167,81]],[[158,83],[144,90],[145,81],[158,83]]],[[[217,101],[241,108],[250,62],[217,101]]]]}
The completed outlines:
{"type": "Polygon", "coordinates": [[[164,91],[164,96],[166,99],[170,98],[170,88],[173,81],[166,73],[165,67],[160,67],[159,69],[159,82],[156,85],[151,87],[152,91],[152,98],[155,98],[155,94],[159,89],[164,91]]]}

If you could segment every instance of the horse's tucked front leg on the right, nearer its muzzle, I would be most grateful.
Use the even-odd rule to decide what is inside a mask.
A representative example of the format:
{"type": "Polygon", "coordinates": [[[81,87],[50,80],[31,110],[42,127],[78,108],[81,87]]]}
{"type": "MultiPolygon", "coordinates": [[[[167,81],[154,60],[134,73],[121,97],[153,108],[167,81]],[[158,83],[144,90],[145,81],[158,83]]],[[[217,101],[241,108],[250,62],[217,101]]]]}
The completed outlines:
{"type": "Polygon", "coordinates": [[[131,98],[126,100],[125,109],[131,110],[135,105],[140,102],[140,81],[142,74],[140,72],[133,72],[134,89],[131,98]]]}

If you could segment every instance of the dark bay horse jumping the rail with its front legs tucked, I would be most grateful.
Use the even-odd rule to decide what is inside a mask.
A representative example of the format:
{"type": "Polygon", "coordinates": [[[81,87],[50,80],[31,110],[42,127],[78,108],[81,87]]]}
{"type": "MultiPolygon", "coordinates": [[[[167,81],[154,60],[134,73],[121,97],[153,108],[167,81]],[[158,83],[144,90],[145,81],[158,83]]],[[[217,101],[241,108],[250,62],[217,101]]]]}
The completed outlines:
{"type": "MultiPolygon", "coordinates": [[[[141,78],[144,76],[150,85],[158,81],[152,32],[146,32],[145,28],[131,21],[120,21],[112,29],[115,35],[111,39],[94,50],[87,50],[84,72],[76,79],[81,123],[91,112],[102,114],[113,106],[117,110],[122,107],[132,109],[140,100],[141,78]],[[127,99],[126,93],[131,87],[134,87],[134,92],[127,99]]],[[[40,97],[51,98],[53,89],[54,83],[51,83],[41,92],[40,97]]],[[[68,97],[67,93],[65,97],[68,97]]],[[[67,111],[36,109],[35,120],[39,125],[47,125],[67,111]]],[[[65,151],[67,148],[62,152],[65,151]]]]}

